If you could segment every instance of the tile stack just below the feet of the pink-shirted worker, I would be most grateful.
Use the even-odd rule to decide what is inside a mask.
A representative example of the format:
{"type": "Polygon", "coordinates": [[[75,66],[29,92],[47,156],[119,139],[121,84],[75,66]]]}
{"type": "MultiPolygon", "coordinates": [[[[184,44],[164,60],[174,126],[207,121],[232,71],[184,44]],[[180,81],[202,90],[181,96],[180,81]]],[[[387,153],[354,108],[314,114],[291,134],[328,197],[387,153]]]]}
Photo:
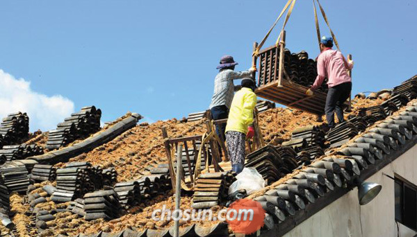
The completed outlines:
{"type": "Polygon", "coordinates": [[[327,141],[330,142],[330,147],[335,148],[342,146],[344,143],[355,137],[359,133],[357,127],[349,121],[339,123],[332,130],[326,134],[327,141]]]}

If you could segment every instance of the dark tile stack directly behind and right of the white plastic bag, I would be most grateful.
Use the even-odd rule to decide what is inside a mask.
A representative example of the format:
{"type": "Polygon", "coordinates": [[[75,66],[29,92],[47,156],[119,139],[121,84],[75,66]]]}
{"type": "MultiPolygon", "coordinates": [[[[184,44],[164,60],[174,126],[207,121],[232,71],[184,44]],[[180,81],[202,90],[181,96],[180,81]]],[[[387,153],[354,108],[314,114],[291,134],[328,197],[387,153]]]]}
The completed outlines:
{"type": "MultiPolygon", "coordinates": [[[[295,163],[297,163],[295,161],[295,163]]],[[[254,167],[268,183],[275,182],[286,174],[291,173],[293,167],[288,167],[281,159],[279,150],[274,146],[264,146],[246,157],[245,167],[254,167]]]]}

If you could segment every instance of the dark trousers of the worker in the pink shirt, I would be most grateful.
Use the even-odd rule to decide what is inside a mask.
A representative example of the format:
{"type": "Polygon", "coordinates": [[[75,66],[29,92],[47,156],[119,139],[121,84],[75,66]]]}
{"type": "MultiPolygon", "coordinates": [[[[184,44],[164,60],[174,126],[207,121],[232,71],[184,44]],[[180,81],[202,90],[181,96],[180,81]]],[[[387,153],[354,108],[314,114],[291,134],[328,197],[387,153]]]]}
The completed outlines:
{"type": "Polygon", "coordinates": [[[338,118],[339,123],[345,121],[343,118],[343,103],[349,98],[350,91],[352,91],[352,82],[345,82],[334,87],[329,88],[326,98],[326,119],[330,128],[334,128],[334,112],[338,118]]]}

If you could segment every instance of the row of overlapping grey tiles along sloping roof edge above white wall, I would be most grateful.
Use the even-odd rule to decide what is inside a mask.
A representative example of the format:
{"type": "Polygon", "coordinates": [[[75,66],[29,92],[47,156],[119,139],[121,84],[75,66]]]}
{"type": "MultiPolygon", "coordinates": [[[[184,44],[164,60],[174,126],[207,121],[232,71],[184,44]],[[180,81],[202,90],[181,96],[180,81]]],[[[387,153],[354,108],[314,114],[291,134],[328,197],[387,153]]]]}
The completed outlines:
{"type": "MultiPolygon", "coordinates": [[[[325,193],[343,188],[343,184],[346,184],[347,188],[354,186],[354,177],[374,169],[375,166],[389,164],[391,159],[395,159],[396,157],[392,157],[393,150],[414,146],[417,143],[416,119],[417,103],[413,103],[399,115],[389,116],[382,123],[363,132],[354,141],[349,141],[329,156],[314,161],[302,169],[301,173],[293,175],[292,179],[286,180],[277,188],[272,188],[256,200],[270,202],[277,207],[284,213],[288,223],[305,220],[313,213],[309,216],[303,216],[302,212],[297,214],[297,210],[303,209],[303,204],[306,206],[309,203],[320,202],[325,193]],[[309,192],[306,194],[306,191],[309,192]]],[[[277,216],[276,211],[270,211],[270,214],[277,216]]],[[[285,234],[292,228],[290,226],[294,225],[284,224],[285,220],[282,219],[281,217],[281,220],[276,222],[277,225],[281,225],[278,236],[285,234]]]]}

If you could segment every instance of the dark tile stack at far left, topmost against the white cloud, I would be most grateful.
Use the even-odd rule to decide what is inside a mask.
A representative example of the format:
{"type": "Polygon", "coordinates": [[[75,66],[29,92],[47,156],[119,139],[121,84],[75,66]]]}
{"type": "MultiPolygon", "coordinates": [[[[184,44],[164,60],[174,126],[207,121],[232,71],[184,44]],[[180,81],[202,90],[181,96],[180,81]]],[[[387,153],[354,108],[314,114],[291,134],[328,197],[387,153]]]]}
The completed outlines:
{"type": "Polygon", "coordinates": [[[0,124],[0,135],[4,145],[14,145],[28,137],[29,117],[26,113],[17,112],[8,114],[0,124]]]}

